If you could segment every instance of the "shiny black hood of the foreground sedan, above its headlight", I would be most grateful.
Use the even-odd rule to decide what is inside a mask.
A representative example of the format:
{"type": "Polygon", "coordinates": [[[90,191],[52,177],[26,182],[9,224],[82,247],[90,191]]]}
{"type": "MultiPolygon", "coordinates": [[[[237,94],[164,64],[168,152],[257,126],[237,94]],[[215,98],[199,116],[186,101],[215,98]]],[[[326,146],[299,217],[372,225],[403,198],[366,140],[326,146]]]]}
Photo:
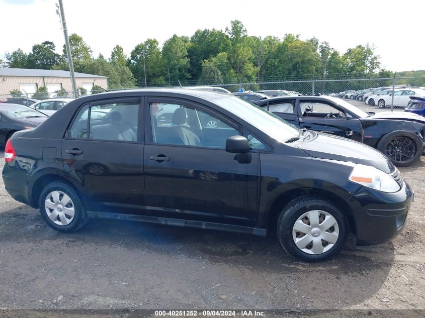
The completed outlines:
{"type": "Polygon", "coordinates": [[[386,173],[394,171],[392,162],[378,150],[350,139],[317,133],[317,137],[297,143],[314,158],[360,163],[386,173]]]}

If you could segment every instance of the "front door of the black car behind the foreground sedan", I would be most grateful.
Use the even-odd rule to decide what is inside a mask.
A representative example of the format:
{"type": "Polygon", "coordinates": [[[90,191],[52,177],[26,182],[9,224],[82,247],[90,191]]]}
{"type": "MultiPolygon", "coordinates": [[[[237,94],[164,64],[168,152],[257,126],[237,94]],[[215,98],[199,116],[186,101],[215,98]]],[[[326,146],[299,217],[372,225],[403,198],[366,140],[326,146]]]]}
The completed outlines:
{"type": "Polygon", "coordinates": [[[362,142],[361,121],[344,109],[324,101],[300,99],[299,110],[301,128],[362,142]]]}

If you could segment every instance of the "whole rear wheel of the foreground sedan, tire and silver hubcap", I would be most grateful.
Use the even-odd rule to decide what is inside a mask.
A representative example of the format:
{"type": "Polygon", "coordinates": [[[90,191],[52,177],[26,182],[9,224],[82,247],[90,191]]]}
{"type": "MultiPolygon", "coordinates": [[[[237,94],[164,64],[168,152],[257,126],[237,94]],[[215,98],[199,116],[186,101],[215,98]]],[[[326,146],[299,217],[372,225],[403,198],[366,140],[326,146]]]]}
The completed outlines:
{"type": "Polygon", "coordinates": [[[70,185],[54,181],[40,193],[39,209],[46,223],[60,232],[79,230],[88,222],[86,208],[78,192],[70,185]]]}

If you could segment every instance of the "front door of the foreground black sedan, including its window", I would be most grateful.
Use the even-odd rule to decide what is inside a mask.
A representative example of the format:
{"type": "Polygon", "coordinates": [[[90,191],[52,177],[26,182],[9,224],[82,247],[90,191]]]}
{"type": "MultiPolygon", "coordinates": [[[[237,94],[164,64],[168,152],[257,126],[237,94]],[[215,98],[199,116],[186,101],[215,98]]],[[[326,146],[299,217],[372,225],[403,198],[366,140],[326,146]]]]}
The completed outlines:
{"type": "Polygon", "coordinates": [[[151,216],[254,226],[259,154],[238,163],[225,151],[241,127],[211,109],[178,99],[145,106],[144,176],[151,216]],[[214,122],[215,125],[210,125],[214,122]]]}

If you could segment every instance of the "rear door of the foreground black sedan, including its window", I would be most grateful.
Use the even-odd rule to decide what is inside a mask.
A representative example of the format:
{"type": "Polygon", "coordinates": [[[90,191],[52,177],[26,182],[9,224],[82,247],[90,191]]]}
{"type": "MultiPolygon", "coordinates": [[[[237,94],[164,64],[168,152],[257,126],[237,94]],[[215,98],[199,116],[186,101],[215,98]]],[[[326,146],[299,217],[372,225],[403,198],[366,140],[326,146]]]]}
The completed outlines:
{"type": "Polygon", "coordinates": [[[62,140],[66,173],[95,211],[143,214],[143,112],[140,98],[83,105],[62,140]]]}

